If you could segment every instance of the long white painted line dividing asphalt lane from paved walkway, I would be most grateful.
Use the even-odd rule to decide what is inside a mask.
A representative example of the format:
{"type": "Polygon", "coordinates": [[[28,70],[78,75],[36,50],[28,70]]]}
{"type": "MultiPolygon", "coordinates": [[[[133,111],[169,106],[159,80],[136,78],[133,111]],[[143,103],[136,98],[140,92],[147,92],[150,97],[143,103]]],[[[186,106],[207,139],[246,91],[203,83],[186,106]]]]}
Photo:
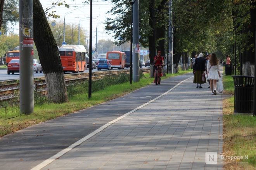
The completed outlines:
{"type": "Polygon", "coordinates": [[[70,145],[69,147],[65,148],[64,150],[62,151],[59,151],[59,153],[55,154],[54,156],[48,158],[47,160],[43,161],[42,163],[36,165],[36,167],[32,168],[31,170],[40,170],[42,169],[43,167],[47,166],[48,164],[52,163],[55,159],[58,159],[59,157],[61,157],[62,155],[64,155],[65,153],[67,153],[68,151],[72,150],[73,148],[75,148],[76,146],[79,146],[81,145],[81,143],[85,142],[87,139],[91,138],[92,136],[94,136],[95,134],[103,131],[104,129],[106,129],[108,126],[110,126],[111,124],[114,124],[115,122],[123,119],[124,117],[128,116],[129,114],[135,112],[136,110],[138,109],[141,109],[142,107],[144,107],[145,105],[148,105],[152,102],[154,102],[155,100],[159,99],[160,97],[162,97],[163,95],[166,95],[167,93],[171,92],[173,89],[175,89],[178,85],[180,85],[181,83],[189,80],[190,78],[192,78],[193,76],[183,80],[182,82],[176,84],[173,88],[171,88],[170,90],[168,90],[167,92],[159,95],[158,97],[156,97],[155,99],[152,99],[150,100],[149,102],[145,103],[145,104],[142,104],[140,105],[139,107],[131,110],[130,112],[124,114],[123,116],[120,116],[116,119],[114,119],[113,121],[111,122],[108,122],[107,124],[101,126],[100,128],[96,129],[95,131],[93,131],[92,133],[88,134],[87,136],[83,137],[82,139],[76,141],[75,143],[73,143],[72,145],[70,145]]]}

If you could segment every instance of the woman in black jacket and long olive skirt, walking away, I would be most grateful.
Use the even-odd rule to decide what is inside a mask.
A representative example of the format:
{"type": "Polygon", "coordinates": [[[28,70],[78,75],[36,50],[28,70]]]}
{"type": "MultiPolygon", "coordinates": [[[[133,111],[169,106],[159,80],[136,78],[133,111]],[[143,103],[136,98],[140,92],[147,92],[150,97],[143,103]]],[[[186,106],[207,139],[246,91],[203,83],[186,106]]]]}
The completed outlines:
{"type": "Polygon", "coordinates": [[[194,70],[194,83],[197,83],[196,88],[202,88],[202,84],[206,83],[205,79],[205,58],[204,54],[200,53],[199,56],[195,59],[195,70],[194,70]],[[204,80],[203,78],[204,77],[204,80]]]}

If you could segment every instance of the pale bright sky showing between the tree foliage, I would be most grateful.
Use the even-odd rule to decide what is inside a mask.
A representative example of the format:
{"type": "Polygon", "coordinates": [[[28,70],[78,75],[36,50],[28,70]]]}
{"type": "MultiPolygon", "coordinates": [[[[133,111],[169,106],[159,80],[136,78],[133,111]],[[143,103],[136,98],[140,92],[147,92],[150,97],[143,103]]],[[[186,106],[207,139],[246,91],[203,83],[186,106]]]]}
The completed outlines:
{"type": "MultiPolygon", "coordinates": [[[[45,8],[49,8],[52,6],[53,2],[56,2],[56,0],[40,0],[42,3],[42,6],[45,10],[45,8]]],[[[63,1],[62,1],[63,2],[63,1]]],[[[60,19],[55,19],[56,21],[61,20],[64,22],[64,16],[66,18],[66,24],[74,24],[78,25],[80,22],[80,27],[85,28],[85,30],[90,30],[90,4],[83,3],[83,0],[65,0],[65,2],[70,5],[69,8],[64,7],[64,5],[61,5],[60,7],[54,7],[50,10],[56,11],[56,15],[60,15],[60,19]],[[66,14],[66,15],[65,15],[66,14]]],[[[95,46],[96,42],[96,26],[98,28],[98,41],[100,39],[111,39],[113,41],[113,38],[111,35],[108,35],[106,31],[104,30],[104,21],[106,20],[106,17],[110,17],[110,14],[106,14],[108,10],[111,10],[111,8],[114,5],[112,5],[109,1],[106,0],[93,0],[92,3],[92,44],[95,46]]],[[[53,19],[51,19],[53,20],[53,19]]],[[[16,25],[14,27],[14,33],[19,34],[19,26],[16,25]]],[[[89,34],[88,34],[89,36],[89,34]]]]}

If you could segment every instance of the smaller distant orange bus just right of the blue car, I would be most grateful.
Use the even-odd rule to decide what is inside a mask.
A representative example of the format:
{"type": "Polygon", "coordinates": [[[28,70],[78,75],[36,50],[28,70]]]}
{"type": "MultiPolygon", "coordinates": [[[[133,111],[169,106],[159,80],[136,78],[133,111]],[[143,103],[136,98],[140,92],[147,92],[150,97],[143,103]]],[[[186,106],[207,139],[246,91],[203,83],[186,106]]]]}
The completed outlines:
{"type": "Polygon", "coordinates": [[[107,52],[107,59],[111,62],[111,68],[125,68],[125,53],[121,51],[107,52]]]}

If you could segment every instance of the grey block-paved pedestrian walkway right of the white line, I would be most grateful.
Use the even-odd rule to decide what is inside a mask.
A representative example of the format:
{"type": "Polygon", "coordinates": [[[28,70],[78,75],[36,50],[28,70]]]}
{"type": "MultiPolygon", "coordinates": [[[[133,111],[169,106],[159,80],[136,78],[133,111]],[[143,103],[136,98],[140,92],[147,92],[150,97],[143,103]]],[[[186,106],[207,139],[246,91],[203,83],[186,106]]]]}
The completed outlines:
{"type": "Polygon", "coordinates": [[[192,77],[185,80],[102,128],[54,161],[48,160],[42,169],[222,169],[223,96],[210,95],[208,84],[195,88],[192,81],[192,77]],[[206,164],[206,152],[218,154],[217,164],[206,164]]]}

